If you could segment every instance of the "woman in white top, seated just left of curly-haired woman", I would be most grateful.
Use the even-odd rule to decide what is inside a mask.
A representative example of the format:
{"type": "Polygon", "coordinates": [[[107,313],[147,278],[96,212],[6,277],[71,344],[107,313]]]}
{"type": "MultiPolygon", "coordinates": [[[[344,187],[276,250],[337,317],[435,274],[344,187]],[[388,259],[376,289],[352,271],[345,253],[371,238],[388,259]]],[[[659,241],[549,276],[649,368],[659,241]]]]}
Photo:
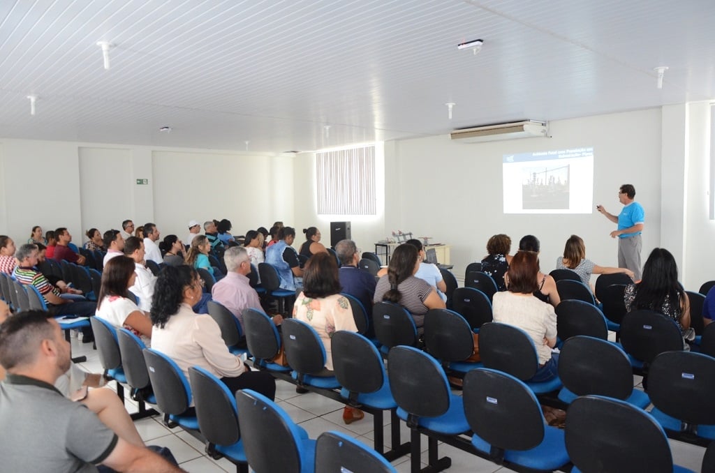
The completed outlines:
{"type": "Polygon", "coordinates": [[[131,330],[148,345],[152,339],[152,321],[129,299],[129,288],[137,279],[134,269],[134,260],[129,257],[112,258],[107,263],[102,272],[102,289],[99,289],[97,297],[97,317],[117,329],[124,327],[131,330]]]}

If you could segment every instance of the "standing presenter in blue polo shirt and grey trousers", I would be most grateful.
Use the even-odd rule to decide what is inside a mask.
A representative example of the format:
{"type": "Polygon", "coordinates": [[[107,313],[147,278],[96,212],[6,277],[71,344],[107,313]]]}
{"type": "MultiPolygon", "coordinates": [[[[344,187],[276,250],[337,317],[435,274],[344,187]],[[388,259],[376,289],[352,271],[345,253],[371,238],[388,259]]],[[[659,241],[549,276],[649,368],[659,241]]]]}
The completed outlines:
{"type": "Polygon", "coordinates": [[[643,206],[635,200],[636,188],[631,184],[623,184],[618,191],[618,201],[623,204],[621,213],[609,214],[602,205],[597,205],[596,210],[605,215],[618,229],[611,231],[611,238],[618,238],[618,267],[628,268],[634,274],[636,281],[641,279],[641,233],[646,214],[643,206]]]}

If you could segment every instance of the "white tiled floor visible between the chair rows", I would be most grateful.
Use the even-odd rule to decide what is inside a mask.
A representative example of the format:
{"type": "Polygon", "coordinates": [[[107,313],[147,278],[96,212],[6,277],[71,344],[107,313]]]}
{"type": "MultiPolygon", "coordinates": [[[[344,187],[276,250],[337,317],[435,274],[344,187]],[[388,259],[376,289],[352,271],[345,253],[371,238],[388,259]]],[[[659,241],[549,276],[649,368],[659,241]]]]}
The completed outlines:
{"type": "MultiPolygon", "coordinates": [[[[92,350],[92,344],[81,344],[77,339],[72,339],[73,356],[86,355],[87,362],[80,364],[83,369],[88,372],[101,373],[102,367],[99,364],[97,352],[92,350]]],[[[641,379],[634,379],[637,386],[641,379]]],[[[110,387],[114,383],[110,383],[110,387]]],[[[337,430],[345,432],[352,437],[359,439],[368,446],[373,444],[373,419],[370,414],[365,414],[365,419],[360,422],[353,422],[350,425],[345,425],[342,422],[342,407],[339,402],[332,399],[327,399],[315,393],[296,394],[295,386],[283,382],[277,382],[276,401],[290,414],[290,417],[300,424],[310,438],[314,439],[322,432],[327,430],[337,430]]],[[[135,412],[136,405],[127,400],[127,410],[135,412]]],[[[385,415],[384,438],[385,446],[390,442],[390,417],[385,415]]],[[[169,447],[174,457],[180,466],[188,472],[197,473],[212,473],[212,472],[235,472],[236,467],[226,459],[212,459],[204,453],[204,445],[199,440],[192,437],[191,434],[177,428],[168,429],[164,427],[159,417],[142,419],[135,422],[139,434],[147,444],[161,445],[169,447]]],[[[409,440],[409,429],[404,422],[400,426],[401,440],[407,442],[409,440]]],[[[683,467],[699,471],[704,449],[695,447],[691,444],[682,442],[670,441],[671,450],[676,464],[683,467]]],[[[427,442],[423,439],[422,442],[422,466],[427,465],[427,442]]],[[[476,457],[475,455],[462,452],[455,447],[440,444],[440,457],[448,456],[452,459],[452,467],[448,469],[450,472],[473,472],[473,473],[492,473],[506,472],[508,469],[498,467],[498,465],[488,462],[485,459],[476,457]]],[[[393,462],[398,472],[410,471],[410,456],[406,455],[393,462]]]]}

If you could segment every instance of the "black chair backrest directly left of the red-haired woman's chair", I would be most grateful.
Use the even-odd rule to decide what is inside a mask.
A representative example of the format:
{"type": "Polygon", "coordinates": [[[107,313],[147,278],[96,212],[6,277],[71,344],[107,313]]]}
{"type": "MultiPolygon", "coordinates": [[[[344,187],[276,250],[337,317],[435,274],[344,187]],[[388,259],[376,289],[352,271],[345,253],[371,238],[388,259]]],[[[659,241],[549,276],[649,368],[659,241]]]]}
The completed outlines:
{"type": "Polygon", "coordinates": [[[473,332],[467,321],[448,309],[425,314],[425,348],[440,362],[461,362],[473,353],[473,332]]]}

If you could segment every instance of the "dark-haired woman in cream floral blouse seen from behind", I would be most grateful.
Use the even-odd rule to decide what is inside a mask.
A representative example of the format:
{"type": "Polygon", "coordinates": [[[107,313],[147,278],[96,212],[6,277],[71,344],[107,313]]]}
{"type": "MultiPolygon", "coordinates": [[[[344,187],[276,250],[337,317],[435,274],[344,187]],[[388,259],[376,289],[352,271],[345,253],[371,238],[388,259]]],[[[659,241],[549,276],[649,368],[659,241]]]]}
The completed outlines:
{"type": "MultiPolygon", "coordinates": [[[[340,295],[337,263],[330,254],[316,253],[305,264],[303,291],[295,300],[293,318],[315,329],[325,347],[325,369],[332,372],[332,345],[330,337],[339,330],[358,332],[352,317],[350,302],[340,295]]],[[[363,419],[360,409],[346,406],[342,411],[345,424],[363,419]]]]}

